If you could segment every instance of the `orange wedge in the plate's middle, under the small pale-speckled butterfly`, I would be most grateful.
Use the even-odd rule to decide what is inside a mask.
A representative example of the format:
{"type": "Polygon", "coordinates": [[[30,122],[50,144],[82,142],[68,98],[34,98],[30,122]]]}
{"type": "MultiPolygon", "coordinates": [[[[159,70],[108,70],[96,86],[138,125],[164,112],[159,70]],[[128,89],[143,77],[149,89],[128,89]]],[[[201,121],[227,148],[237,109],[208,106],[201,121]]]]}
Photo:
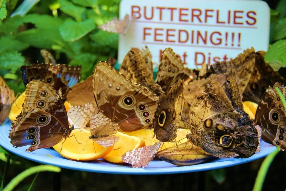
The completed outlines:
{"type": "Polygon", "coordinates": [[[134,136],[129,136],[120,132],[117,132],[115,136],[119,137],[119,140],[114,144],[113,150],[103,158],[113,163],[124,163],[121,161],[121,156],[132,149],[145,146],[145,142],[134,136]]]}

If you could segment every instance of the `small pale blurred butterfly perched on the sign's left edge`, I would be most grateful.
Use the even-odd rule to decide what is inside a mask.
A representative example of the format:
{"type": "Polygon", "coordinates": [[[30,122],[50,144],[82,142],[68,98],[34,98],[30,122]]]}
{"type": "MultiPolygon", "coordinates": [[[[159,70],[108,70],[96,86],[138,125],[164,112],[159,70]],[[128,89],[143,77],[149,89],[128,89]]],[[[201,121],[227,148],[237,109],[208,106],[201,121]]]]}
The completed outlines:
{"type": "Polygon", "coordinates": [[[123,20],[118,20],[116,17],[114,17],[112,20],[100,25],[99,28],[109,33],[118,33],[126,35],[132,23],[134,23],[134,20],[134,16],[132,16],[130,20],[129,15],[126,14],[123,20]]]}

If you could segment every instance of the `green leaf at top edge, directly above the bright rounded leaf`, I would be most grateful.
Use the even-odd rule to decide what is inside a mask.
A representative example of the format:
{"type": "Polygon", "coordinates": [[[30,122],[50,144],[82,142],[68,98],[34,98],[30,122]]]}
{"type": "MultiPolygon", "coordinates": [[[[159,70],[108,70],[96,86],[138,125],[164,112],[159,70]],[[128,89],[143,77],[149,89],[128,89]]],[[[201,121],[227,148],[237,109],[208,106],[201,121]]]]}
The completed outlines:
{"type": "Polygon", "coordinates": [[[84,7],[77,6],[67,0],[59,0],[60,10],[65,14],[72,16],[76,19],[76,21],[82,21],[82,14],[86,10],[84,7]]]}

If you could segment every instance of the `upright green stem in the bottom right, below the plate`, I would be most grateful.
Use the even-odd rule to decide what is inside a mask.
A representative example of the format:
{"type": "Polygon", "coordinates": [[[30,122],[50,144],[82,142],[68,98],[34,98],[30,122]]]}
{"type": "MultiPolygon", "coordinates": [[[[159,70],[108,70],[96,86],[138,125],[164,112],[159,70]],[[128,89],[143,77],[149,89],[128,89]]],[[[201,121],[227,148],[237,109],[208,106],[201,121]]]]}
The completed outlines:
{"type": "Polygon", "coordinates": [[[279,151],[280,150],[277,148],[275,151],[267,155],[267,157],[264,159],[258,171],[252,191],[260,191],[262,189],[263,182],[265,180],[265,176],[267,174],[268,168],[270,164],[272,163],[274,157],[279,153],[279,151]]]}

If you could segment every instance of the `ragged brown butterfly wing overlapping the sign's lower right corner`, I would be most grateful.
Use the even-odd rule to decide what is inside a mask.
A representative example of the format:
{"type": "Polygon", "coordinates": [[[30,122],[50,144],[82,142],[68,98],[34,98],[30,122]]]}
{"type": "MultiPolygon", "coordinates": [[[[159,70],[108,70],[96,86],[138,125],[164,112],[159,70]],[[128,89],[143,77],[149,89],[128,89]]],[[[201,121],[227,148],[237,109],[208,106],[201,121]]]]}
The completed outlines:
{"type": "Polygon", "coordinates": [[[242,95],[251,78],[254,64],[255,51],[252,47],[244,50],[243,53],[230,61],[217,62],[210,65],[210,68],[206,71],[205,78],[211,74],[227,74],[227,78],[235,78],[237,80],[240,94],[242,95]]]}

